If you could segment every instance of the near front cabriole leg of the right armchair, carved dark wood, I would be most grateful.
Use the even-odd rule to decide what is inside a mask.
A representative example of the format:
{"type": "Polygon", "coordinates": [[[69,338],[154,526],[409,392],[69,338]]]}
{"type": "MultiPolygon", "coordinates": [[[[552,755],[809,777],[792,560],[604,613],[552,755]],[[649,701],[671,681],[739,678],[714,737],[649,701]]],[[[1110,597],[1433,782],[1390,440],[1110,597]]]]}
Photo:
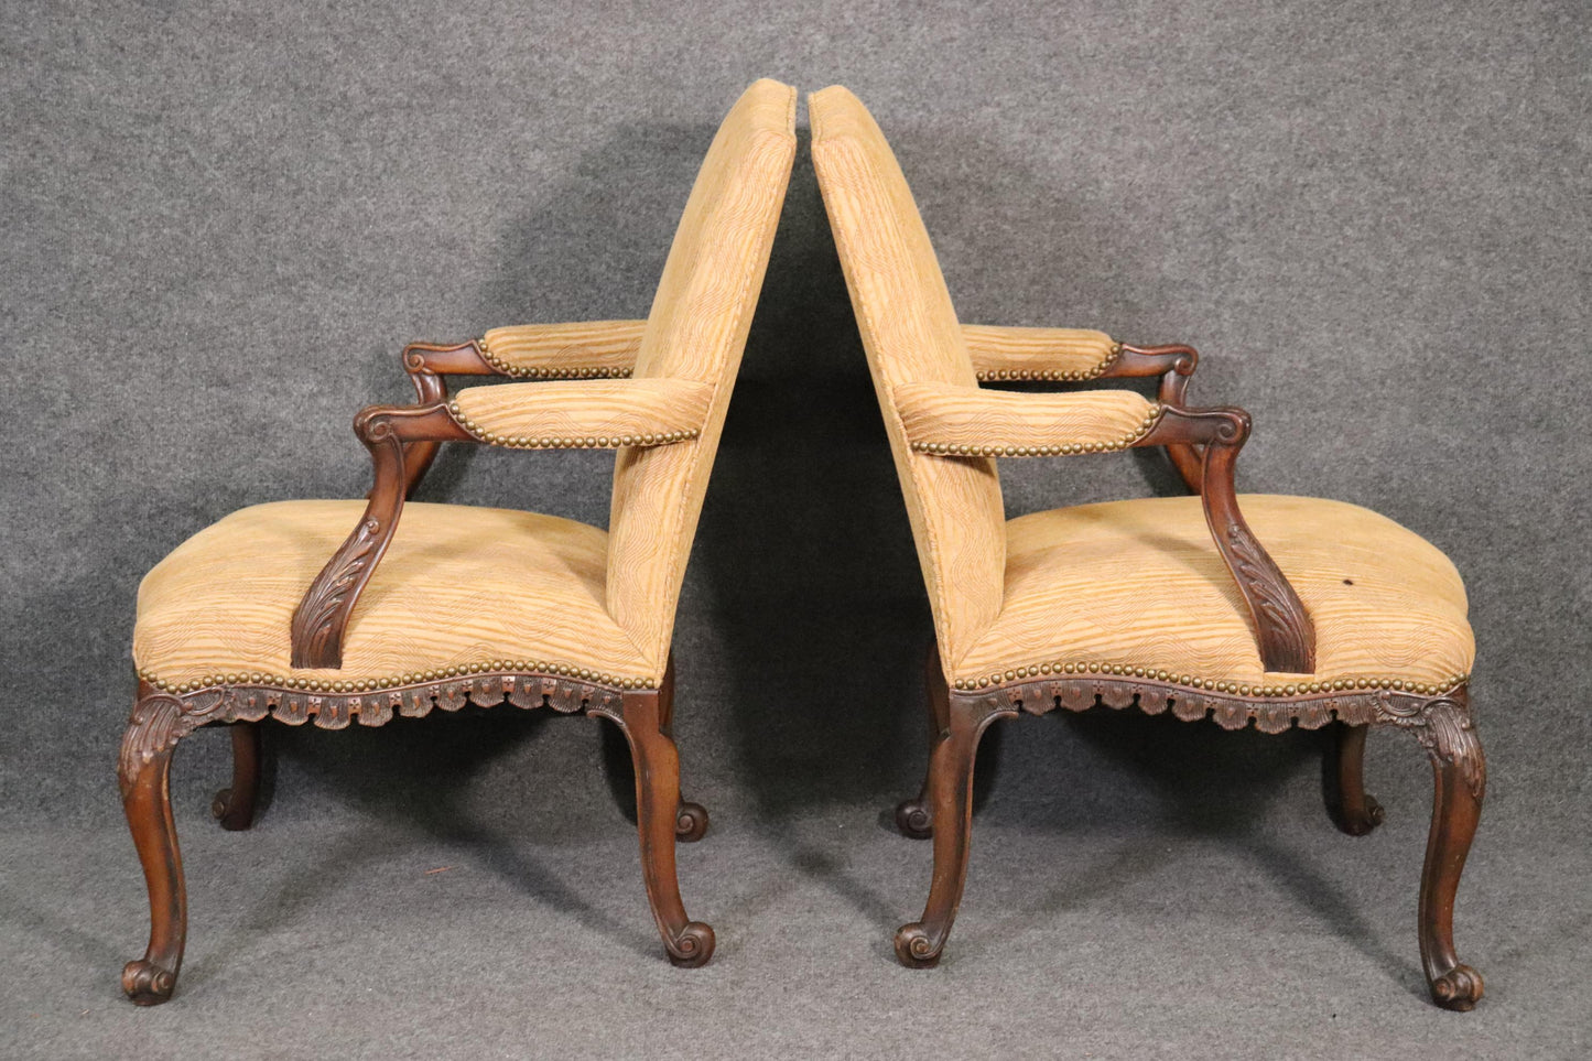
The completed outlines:
{"type": "Polygon", "coordinates": [[[1482,997],[1482,977],[1453,951],[1453,897],[1487,792],[1487,758],[1471,722],[1466,688],[1418,711],[1383,696],[1385,718],[1409,730],[1431,758],[1431,832],[1420,875],[1420,959],[1431,999],[1447,1010],[1469,1010],[1482,997]]]}

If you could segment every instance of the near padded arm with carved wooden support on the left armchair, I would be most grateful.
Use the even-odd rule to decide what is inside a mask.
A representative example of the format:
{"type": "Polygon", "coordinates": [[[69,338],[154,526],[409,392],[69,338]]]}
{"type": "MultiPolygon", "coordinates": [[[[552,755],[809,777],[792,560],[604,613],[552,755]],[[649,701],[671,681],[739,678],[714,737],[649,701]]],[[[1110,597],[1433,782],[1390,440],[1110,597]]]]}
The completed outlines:
{"type": "Polygon", "coordinates": [[[417,444],[476,441],[516,449],[667,446],[696,438],[712,387],[685,379],[605,379],[541,387],[470,387],[452,401],[373,405],[353,417],[376,484],[358,526],[293,612],[293,666],[342,666],[342,637],[360,593],[403,515],[417,444]]]}

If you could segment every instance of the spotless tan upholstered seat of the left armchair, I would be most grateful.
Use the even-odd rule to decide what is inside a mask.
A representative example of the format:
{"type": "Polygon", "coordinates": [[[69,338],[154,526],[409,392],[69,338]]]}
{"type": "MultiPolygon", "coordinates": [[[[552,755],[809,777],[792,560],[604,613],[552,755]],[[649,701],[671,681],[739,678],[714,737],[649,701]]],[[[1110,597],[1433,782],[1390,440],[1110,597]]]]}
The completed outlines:
{"type": "Polygon", "coordinates": [[[404,505],[353,610],[342,668],[291,668],[293,610],[363,511],[360,500],[255,505],[183,542],[139,586],[140,674],[167,685],[228,674],[395,685],[500,664],[656,683],[661,668],[603,607],[605,530],[419,502],[404,505]]]}

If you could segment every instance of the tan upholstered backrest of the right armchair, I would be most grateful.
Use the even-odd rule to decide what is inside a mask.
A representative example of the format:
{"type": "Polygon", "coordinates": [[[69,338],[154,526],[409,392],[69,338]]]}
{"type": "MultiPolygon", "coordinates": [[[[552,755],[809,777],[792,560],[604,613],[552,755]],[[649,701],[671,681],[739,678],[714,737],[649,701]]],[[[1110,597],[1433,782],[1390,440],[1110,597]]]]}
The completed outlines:
{"type": "Polygon", "coordinates": [[[909,382],[977,386],[946,279],[901,166],[861,100],[814,92],[812,159],[906,494],[946,666],[1001,605],[1005,508],[995,460],[907,446],[892,392],[909,382]]]}

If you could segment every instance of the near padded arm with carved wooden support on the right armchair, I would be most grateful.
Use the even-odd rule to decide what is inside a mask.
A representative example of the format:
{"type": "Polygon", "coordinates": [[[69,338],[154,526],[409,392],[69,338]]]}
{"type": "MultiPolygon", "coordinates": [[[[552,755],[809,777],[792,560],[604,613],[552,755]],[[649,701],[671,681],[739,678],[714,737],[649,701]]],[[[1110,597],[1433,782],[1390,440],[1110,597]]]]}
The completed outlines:
{"type": "Polygon", "coordinates": [[[1234,467],[1250,437],[1243,409],[1154,405],[1130,390],[1035,395],[907,384],[893,397],[907,444],[941,457],[1046,457],[1132,446],[1197,452],[1205,524],[1250,610],[1266,669],[1315,669],[1310,617],[1239,511],[1234,467]]]}

